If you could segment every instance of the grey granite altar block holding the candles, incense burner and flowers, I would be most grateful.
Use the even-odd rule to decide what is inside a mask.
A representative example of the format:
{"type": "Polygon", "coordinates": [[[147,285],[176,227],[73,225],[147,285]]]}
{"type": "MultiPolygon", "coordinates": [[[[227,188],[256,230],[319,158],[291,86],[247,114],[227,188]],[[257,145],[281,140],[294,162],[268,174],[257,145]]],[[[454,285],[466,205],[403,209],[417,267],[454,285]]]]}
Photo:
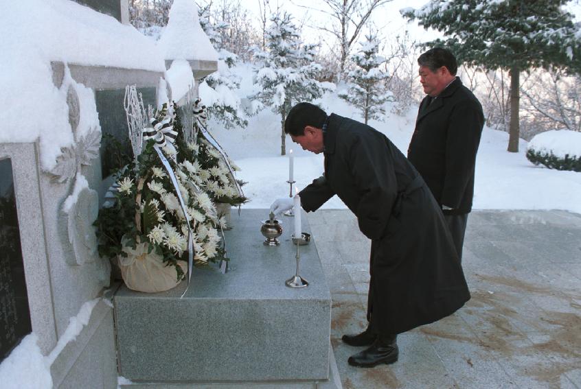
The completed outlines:
{"type": "Polygon", "coordinates": [[[128,388],[341,388],[315,242],[301,246],[300,274],[310,285],[286,287],[296,266],[293,218],[281,218],[281,244],[268,247],[260,233],[268,213],[233,213],[225,232],[229,271],[194,269],[184,298],[185,282],[157,294],[117,291],[119,375],[137,384],[128,388]]]}

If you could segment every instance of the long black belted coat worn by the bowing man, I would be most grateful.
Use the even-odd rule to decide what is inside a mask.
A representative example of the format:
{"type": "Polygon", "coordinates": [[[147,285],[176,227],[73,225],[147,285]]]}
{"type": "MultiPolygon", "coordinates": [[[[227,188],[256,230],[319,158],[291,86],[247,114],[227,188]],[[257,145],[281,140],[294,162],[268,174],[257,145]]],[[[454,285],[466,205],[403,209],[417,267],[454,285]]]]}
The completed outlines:
{"type": "Polygon", "coordinates": [[[325,176],[301,191],[305,211],[337,194],[372,239],[368,311],[379,333],[452,314],[470,298],[444,215],[413,165],[373,128],[330,115],[325,176]]]}

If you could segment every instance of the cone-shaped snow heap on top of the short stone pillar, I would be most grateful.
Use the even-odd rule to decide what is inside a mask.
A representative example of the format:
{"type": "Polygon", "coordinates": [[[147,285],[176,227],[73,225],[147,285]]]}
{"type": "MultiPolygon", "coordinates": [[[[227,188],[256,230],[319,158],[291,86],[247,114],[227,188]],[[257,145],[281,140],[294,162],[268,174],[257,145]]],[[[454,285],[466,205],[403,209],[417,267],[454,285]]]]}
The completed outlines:
{"type": "Polygon", "coordinates": [[[174,0],[170,20],[157,46],[166,60],[218,60],[218,53],[200,25],[198,6],[191,0],[174,0]]]}

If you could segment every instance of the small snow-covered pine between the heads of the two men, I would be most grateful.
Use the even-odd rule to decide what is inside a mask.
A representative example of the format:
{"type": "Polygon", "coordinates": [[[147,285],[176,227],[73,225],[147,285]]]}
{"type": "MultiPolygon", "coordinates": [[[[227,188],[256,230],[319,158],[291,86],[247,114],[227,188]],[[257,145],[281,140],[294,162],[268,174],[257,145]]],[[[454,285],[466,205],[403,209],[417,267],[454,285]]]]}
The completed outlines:
{"type": "Polygon", "coordinates": [[[380,119],[380,115],[385,115],[383,104],[393,101],[393,95],[386,87],[389,74],[380,69],[385,58],[379,56],[378,51],[376,34],[367,34],[359,51],[351,56],[357,67],[347,75],[347,93],[339,94],[361,110],[365,124],[369,119],[380,119]]]}

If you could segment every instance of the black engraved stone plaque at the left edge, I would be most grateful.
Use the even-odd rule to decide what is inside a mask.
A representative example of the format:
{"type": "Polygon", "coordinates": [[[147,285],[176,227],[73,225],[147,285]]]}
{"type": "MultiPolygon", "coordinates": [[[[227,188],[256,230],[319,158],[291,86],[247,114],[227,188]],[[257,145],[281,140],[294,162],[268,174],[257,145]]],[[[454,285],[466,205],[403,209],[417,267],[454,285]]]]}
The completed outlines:
{"type": "Polygon", "coordinates": [[[12,162],[0,160],[0,361],[32,331],[12,162]]]}

